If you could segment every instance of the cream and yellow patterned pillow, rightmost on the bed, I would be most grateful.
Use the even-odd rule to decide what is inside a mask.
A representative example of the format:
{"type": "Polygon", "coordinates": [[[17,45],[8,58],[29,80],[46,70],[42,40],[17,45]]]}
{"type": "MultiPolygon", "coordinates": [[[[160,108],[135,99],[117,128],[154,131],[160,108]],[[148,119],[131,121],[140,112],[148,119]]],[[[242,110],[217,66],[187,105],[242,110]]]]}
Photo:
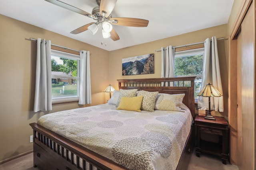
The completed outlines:
{"type": "Polygon", "coordinates": [[[182,100],[184,96],[185,94],[159,93],[156,97],[154,109],[184,112],[184,109],[182,109],[182,100]]]}

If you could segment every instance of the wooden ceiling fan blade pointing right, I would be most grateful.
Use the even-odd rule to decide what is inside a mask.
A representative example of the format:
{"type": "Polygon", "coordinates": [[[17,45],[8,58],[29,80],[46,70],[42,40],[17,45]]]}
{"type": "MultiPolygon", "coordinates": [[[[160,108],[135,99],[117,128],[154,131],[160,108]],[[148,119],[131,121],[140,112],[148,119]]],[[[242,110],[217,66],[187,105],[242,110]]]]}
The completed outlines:
{"type": "Polygon", "coordinates": [[[113,25],[122,25],[129,27],[147,27],[148,20],[138,19],[138,18],[110,18],[110,20],[116,20],[112,22],[113,25]]]}

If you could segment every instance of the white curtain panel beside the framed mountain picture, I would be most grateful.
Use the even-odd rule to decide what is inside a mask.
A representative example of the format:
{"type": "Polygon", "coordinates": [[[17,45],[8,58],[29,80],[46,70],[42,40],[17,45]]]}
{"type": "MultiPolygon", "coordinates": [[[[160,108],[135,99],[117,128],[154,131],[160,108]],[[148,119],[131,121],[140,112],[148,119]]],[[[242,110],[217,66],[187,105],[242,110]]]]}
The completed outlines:
{"type": "MultiPolygon", "coordinates": [[[[164,48],[162,50],[162,72],[161,78],[169,78],[174,77],[174,56],[175,56],[175,49],[172,49],[172,45],[164,48]]],[[[166,82],[167,86],[168,82],[166,82]]],[[[162,82],[161,86],[164,86],[164,82],[162,82]]],[[[170,86],[173,86],[173,82],[170,83],[170,86]]]]}

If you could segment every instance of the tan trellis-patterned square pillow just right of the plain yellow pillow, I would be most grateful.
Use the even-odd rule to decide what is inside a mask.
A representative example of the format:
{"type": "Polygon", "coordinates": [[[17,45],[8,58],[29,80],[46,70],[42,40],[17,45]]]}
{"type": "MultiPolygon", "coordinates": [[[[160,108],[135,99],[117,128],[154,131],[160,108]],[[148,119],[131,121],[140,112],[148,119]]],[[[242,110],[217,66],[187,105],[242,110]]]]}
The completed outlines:
{"type": "Polygon", "coordinates": [[[154,111],[157,94],[158,92],[148,92],[144,90],[138,91],[137,96],[143,96],[142,105],[140,109],[145,111],[154,111]]]}

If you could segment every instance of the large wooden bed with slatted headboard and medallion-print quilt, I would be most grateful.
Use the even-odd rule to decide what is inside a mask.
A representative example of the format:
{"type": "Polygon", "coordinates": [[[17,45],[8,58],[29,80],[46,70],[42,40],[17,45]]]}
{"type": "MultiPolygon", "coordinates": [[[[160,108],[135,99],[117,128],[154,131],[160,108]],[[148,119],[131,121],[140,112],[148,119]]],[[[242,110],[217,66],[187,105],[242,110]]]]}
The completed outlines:
{"type": "Polygon", "coordinates": [[[119,98],[118,107],[102,104],[40,117],[37,123],[30,123],[34,166],[41,170],[185,170],[194,148],[194,78],[118,80],[120,92],[136,89],[136,100],[143,93],[157,92],[158,97],[184,94],[184,106],[178,111],[127,111],[120,107],[126,101],[119,98]],[[186,127],[177,128],[178,124],[186,127]]]}

